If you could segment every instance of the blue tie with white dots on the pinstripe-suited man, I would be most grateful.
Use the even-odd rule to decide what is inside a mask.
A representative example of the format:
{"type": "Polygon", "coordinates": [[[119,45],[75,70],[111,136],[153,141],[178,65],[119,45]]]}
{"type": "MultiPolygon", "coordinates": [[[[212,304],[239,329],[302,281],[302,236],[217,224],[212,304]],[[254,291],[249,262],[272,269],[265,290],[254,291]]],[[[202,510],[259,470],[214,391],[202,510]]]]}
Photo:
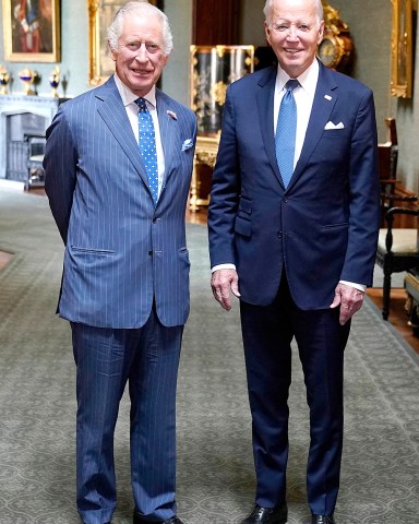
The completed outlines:
{"type": "Polygon", "coordinates": [[[135,104],[139,112],[139,143],[140,153],[147,171],[148,187],[152,192],[154,204],[158,200],[158,169],[156,153],[156,135],[154,132],[153,118],[148,111],[145,98],[137,98],[135,104]]]}

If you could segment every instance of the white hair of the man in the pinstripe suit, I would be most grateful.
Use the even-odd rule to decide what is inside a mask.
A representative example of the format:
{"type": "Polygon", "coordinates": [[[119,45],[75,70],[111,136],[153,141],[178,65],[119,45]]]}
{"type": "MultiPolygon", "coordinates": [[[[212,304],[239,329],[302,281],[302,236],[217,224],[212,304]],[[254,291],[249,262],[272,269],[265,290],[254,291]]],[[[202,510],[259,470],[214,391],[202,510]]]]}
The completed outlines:
{"type": "Polygon", "coordinates": [[[168,57],[173,48],[173,37],[171,35],[169,20],[163,11],[143,0],[128,2],[116,12],[113,21],[108,27],[108,43],[110,48],[113,51],[118,51],[119,38],[122,34],[122,22],[125,16],[134,12],[141,15],[156,15],[160,20],[164,41],[163,55],[168,57]]]}

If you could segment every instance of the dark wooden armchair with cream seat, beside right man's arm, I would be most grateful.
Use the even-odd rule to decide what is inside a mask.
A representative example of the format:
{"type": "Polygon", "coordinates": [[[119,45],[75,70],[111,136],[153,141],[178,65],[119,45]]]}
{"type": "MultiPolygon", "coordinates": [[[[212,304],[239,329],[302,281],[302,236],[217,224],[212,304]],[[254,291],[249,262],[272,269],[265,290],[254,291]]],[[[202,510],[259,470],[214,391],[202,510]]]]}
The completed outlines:
{"type": "MultiPolygon", "coordinates": [[[[414,198],[409,198],[411,202],[414,198]]],[[[418,199],[415,198],[417,201],[418,199]]],[[[380,230],[376,250],[376,263],[384,273],[383,281],[383,319],[390,314],[392,274],[419,267],[419,209],[391,207],[385,213],[386,228],[380,230]],[[410,215],[416,227],[393,228],[397,215],[410,215]]]]}

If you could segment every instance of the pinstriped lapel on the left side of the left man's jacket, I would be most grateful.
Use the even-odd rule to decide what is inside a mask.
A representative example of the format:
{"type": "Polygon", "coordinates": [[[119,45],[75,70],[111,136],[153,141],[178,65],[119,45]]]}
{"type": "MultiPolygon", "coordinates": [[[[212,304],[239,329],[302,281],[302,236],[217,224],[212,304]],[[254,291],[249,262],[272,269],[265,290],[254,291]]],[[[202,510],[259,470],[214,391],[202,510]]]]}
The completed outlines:
{"type": "Polygon", "coordinates": [[[96,96],[103,100],[103,104],[100,104],[97,109],[100,117],[148,188],[148,179],[140,155],[139,144],[135,141],[130,121],[127,117],[127,110],[123,107],[122,99],[112,76],[103,87],[97,90],[96,96]]]}

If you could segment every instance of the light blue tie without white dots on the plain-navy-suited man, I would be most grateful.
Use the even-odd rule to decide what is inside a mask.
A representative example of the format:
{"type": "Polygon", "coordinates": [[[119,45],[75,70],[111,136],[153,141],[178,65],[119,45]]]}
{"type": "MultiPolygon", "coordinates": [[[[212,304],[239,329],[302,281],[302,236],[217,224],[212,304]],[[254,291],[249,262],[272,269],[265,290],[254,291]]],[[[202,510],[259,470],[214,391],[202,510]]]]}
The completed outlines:
{"type": "Polygon", "coordinates": [[[294,172],[294,155],[296,152],[297,133],[297,106],[292,91],[300,85],[298,80],[288,80],[279,107],[278,122],[276,124],[275,148],[284,186],[287,187],[294,172]]]}

